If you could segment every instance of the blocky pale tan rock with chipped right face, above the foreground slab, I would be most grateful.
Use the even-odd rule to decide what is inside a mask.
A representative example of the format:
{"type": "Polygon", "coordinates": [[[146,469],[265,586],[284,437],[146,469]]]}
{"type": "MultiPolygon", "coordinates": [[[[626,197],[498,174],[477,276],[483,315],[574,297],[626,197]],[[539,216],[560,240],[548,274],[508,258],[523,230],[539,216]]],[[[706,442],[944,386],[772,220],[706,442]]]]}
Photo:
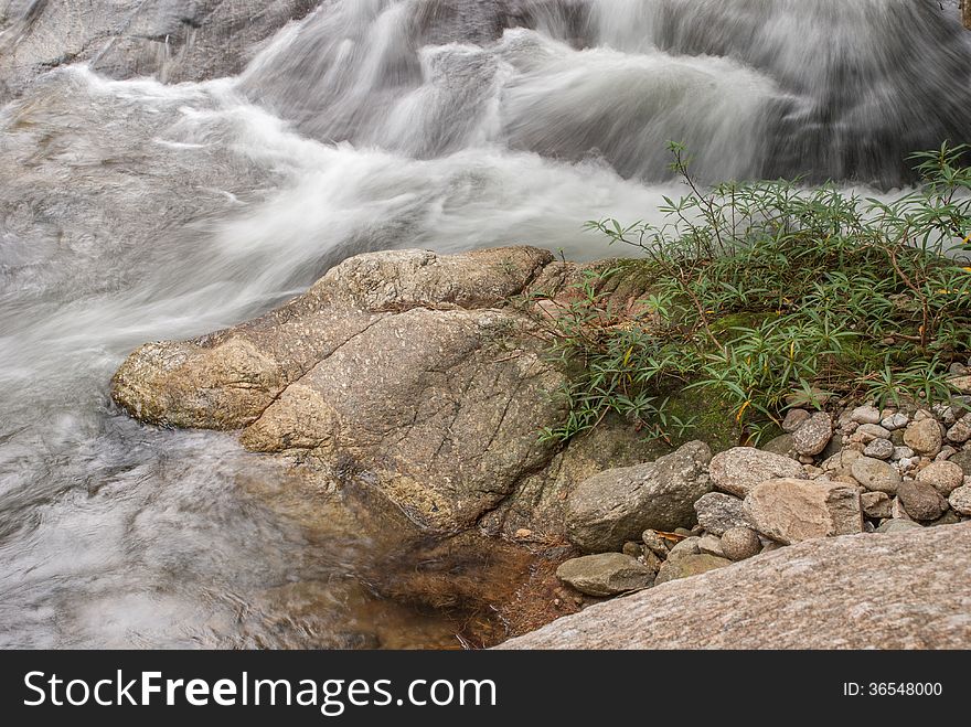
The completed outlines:
{"type": "Polygon", "coordinates": [[[860,492],[837,482],[769,480],[749,492],[745,510],[755,530],[786,544],[863,532],[860,492]]]}

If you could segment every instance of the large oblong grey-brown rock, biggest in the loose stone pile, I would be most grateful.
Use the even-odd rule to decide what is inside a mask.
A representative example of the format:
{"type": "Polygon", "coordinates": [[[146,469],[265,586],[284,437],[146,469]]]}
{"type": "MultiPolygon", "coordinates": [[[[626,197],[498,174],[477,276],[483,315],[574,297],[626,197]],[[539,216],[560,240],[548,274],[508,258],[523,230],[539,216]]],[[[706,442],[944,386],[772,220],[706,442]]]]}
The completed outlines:
{"type": "Polygon", "coordinates": [[[566,502],[566,532],[588,553],[619,550],[644,530],[695,523],[694,503],[712,489],[712,452],[690,442],[655,462],[607,470],[585,480],[566,502]]]}

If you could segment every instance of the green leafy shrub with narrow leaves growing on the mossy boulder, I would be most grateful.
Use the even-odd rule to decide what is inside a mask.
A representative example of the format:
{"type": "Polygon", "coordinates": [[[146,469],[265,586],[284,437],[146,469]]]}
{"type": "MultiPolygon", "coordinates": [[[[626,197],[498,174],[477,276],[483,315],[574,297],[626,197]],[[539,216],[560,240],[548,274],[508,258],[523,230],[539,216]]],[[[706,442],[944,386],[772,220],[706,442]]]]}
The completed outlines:
{"type": "Polygon", "coordinates": [[[969,147],[916,154],[919,188],[892,202],[832,185],[730,182],[703,191],[680,145],[687,185],[661,226],[588,223],[637,263],[589,271],[555,316],[551,350],[573,370],[567,439],[608,413],[652,436],[683,432],[665,394],[701,389],[758,436],[788,406],[833,396],[877,403],[952,393],[948,366],[971,349],[969,147]],[[610,309],[615,276],[652,280],[639,313],[610,309]]]}

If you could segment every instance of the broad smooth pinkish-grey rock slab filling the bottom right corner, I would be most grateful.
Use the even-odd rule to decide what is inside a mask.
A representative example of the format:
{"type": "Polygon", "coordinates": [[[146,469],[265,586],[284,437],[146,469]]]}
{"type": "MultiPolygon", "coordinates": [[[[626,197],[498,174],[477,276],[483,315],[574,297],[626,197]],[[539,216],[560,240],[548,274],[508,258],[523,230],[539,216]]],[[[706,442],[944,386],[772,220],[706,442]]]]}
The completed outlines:
{"type": "Polygon", "coordinates": [[[562,618],[503,649],[969,649],[971,524],[810,541],[562,618]]]}

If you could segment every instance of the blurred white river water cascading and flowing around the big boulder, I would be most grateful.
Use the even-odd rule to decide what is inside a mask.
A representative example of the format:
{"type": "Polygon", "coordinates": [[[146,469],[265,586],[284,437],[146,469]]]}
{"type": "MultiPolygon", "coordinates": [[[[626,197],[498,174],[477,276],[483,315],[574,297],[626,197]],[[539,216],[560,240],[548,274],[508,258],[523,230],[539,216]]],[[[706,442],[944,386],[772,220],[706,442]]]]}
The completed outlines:
{"type": "MultiPolygon", "coordinates": [[[[0,55],[43,4],[0,2],[0,55]]],[[[124,356],[266,311],[355,253],[607,254],[583,223],[677,194],[668,140],[703,180],[907,184],[908,152],[971,139],[957,17],[330,0],[232,77],[35,78],[0,108],[0,646],[458,645],[446,614],[380,595],[373,533],[339,513],[307,533],[267,504],[282,469],[113,408],[124,356]]]]}

